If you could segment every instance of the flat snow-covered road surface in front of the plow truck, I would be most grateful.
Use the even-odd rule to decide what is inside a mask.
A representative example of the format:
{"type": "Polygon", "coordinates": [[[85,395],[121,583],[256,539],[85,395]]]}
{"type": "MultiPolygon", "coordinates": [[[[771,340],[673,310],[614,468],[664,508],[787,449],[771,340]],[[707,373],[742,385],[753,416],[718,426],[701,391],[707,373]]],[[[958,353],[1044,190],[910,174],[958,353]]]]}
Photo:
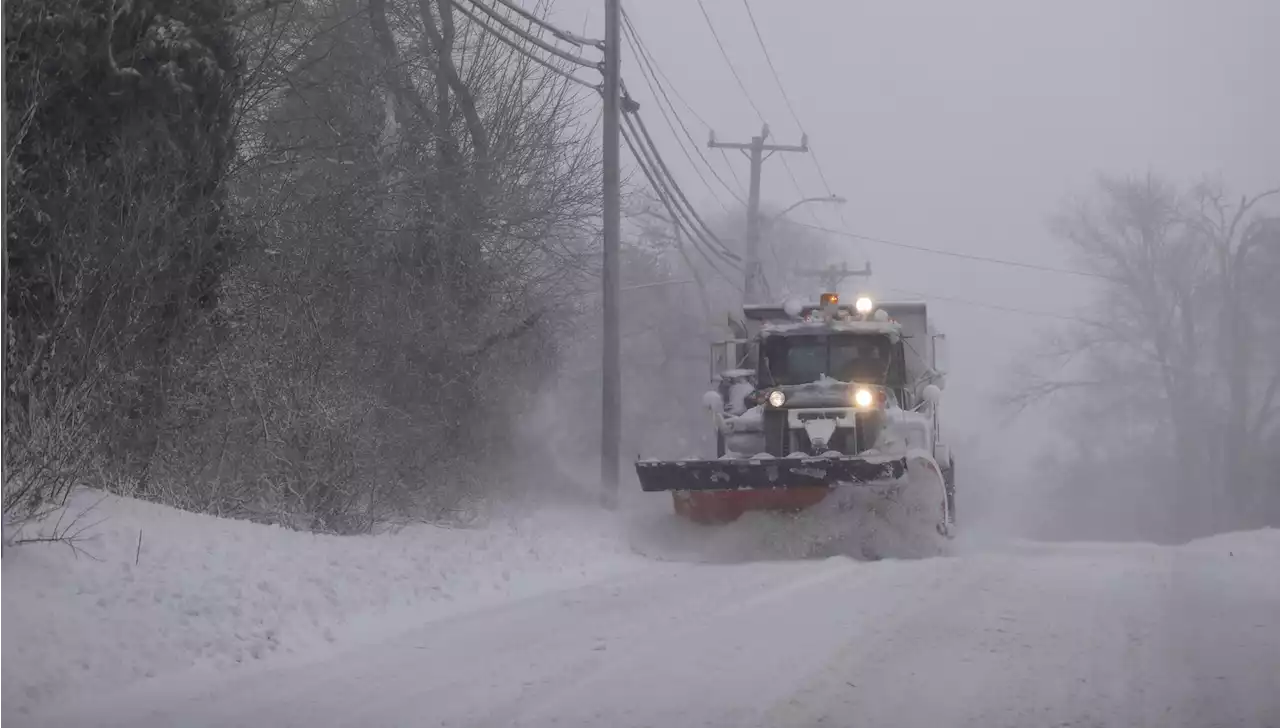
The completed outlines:
{"type": "Polygon", "coordinates": [[[1280,534],[653,563],[22,725],[1280,728],[1280,534]]]}

